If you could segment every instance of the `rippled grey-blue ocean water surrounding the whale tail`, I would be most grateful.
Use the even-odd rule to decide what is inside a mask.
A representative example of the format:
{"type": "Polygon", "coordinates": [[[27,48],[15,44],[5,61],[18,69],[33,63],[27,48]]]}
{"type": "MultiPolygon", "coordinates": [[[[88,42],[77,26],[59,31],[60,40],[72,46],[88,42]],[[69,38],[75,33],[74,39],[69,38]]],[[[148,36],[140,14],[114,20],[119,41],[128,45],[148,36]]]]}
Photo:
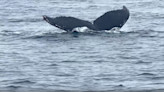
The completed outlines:
{"type": "Polygon", "coordinates": [[[22,88],[164,89],[163,0],[0,0],[0,89],[22,88]],[[66,33],[42,19],[94,21],[123,5],[130,19],[117,32],[66,33]]]}

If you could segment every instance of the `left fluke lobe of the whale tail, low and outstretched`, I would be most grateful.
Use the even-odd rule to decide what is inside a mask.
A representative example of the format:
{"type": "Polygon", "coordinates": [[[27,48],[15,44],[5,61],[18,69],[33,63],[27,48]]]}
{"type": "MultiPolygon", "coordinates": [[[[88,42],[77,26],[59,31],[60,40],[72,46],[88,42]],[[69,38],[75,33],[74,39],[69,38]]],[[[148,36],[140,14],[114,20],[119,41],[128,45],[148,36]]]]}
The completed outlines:
{"type": "Polygon", "coordinates": [[[77,19],[74,17],[61,16],[56,18],[50,18],[48,16],[43,16],[43,18],[51,25],[63,29],[65,31],[72,31],[76,27],[84,27],[84,26],[88,27],[89,29],[96,30],[91,22],[77,19]]]}

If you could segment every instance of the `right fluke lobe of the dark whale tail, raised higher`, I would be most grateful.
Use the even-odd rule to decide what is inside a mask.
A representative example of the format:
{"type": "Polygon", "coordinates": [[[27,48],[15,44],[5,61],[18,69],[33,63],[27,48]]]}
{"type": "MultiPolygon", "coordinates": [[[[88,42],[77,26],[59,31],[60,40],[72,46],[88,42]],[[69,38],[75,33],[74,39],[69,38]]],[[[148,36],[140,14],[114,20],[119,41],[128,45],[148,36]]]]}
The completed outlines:
{"type": "Polygon", "coordinates": [[[129,10],[123,6],[121,10],[109,11],[98,17],[93,25],[98,30],[110,30],[113,27],[121,28],[129,18],[129,10]]]}

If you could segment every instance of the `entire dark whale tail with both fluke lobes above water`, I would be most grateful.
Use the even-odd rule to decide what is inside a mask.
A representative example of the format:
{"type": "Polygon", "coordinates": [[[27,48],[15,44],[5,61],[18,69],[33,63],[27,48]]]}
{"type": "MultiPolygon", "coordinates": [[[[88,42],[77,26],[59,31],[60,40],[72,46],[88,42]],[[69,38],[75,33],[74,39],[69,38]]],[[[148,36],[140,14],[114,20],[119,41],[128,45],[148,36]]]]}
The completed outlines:
{"type": "Polygon", "coordinates": [[[88,27],[92,30],[110,30],[113,27],[121,28],[129,18],[129,10],[123,6],[123,9],[109,11],[98,17],[93,24],[86,20],[77,19],[74,17],[56,17],[50,18],[48,16],[43,16],[51,25],[60,28],[65,31],[72,31],[76,27],[88,27]]]}

